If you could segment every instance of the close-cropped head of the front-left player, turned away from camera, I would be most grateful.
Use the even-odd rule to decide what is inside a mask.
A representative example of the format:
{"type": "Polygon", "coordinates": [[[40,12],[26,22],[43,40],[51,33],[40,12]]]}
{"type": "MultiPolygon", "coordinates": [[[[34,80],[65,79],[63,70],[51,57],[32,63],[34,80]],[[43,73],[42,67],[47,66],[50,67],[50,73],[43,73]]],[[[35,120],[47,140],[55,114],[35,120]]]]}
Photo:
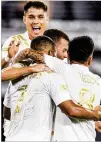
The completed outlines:
{"type": "Polygon", "coordinates": [[[55,42],[47,36],[38,36],[31,41],[31,49],[55,56],[55,42]]]}

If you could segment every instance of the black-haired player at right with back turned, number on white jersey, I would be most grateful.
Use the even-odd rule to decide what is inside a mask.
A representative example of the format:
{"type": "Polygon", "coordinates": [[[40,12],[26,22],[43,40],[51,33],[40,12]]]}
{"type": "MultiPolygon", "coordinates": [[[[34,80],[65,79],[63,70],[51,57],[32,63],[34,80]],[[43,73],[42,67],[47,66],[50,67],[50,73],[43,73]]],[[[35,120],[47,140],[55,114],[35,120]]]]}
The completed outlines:
{"type": "MultiPolygon", "coordinates": [[[[80,36],[69,44],[70,65],[57,58],[45,56],[46,64],[63,76],[72,100],[89,111],[100,105],[101,100],[101,78],[89,71],[93,51],[92,39],[80,36]]],[[[94,121],[72,119],[57,109],[54,141],[95,141],[95,137],[94,121]]]]}

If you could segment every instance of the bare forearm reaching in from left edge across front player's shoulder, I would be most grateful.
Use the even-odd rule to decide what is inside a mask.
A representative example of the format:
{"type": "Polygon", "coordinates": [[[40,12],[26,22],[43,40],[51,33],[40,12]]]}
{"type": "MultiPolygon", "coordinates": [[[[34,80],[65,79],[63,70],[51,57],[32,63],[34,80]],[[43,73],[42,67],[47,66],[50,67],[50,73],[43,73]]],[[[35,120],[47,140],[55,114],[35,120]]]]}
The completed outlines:
{"type": "Polygon", "coordinates": [[[1,73],[1,79],[2,81],[13,80],[30,73],[32,73],[32,70],[30,67],[10,68],[10,69],[4,70],[1,73]]]}

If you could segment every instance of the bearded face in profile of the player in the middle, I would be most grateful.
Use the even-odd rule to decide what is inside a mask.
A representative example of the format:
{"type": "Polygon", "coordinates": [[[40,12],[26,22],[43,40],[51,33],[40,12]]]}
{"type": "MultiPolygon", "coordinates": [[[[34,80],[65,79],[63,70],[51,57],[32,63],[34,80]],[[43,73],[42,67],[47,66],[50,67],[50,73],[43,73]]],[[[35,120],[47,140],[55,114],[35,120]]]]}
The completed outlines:
{"type": "Polygon", "coordinates": [[[68,46],[69,46],[69,42],[63,38],[61,38],[60,41],[56,43],[57,58],[61,60],[64,60],[64,58],[67,58],[68,46]]]}

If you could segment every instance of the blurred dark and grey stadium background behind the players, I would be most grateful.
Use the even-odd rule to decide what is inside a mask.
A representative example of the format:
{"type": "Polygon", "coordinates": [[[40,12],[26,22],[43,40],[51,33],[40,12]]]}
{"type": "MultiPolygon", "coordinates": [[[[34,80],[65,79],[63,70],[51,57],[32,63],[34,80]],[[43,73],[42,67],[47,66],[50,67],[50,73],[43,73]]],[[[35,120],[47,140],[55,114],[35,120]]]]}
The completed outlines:
{"type": "MultiPolygon", "coordinates": [[[[95,42],[95,52],[90,70],[101,76],[101,1],[44,1],[49,7],[48,28],[63,30],[72,39],[89,35],[95,42]]],[[[25,32],[22,21],[26,1],[1,2],[1,44],[14,34],[25,32]]],[[[2,56],[2,55],[1,55],[2,56]]],[[[2,82],[1,95],[4,97],[8,82],[2,82]]],[[[97,139],[101,134],[97,133],[97,139]]]]}

